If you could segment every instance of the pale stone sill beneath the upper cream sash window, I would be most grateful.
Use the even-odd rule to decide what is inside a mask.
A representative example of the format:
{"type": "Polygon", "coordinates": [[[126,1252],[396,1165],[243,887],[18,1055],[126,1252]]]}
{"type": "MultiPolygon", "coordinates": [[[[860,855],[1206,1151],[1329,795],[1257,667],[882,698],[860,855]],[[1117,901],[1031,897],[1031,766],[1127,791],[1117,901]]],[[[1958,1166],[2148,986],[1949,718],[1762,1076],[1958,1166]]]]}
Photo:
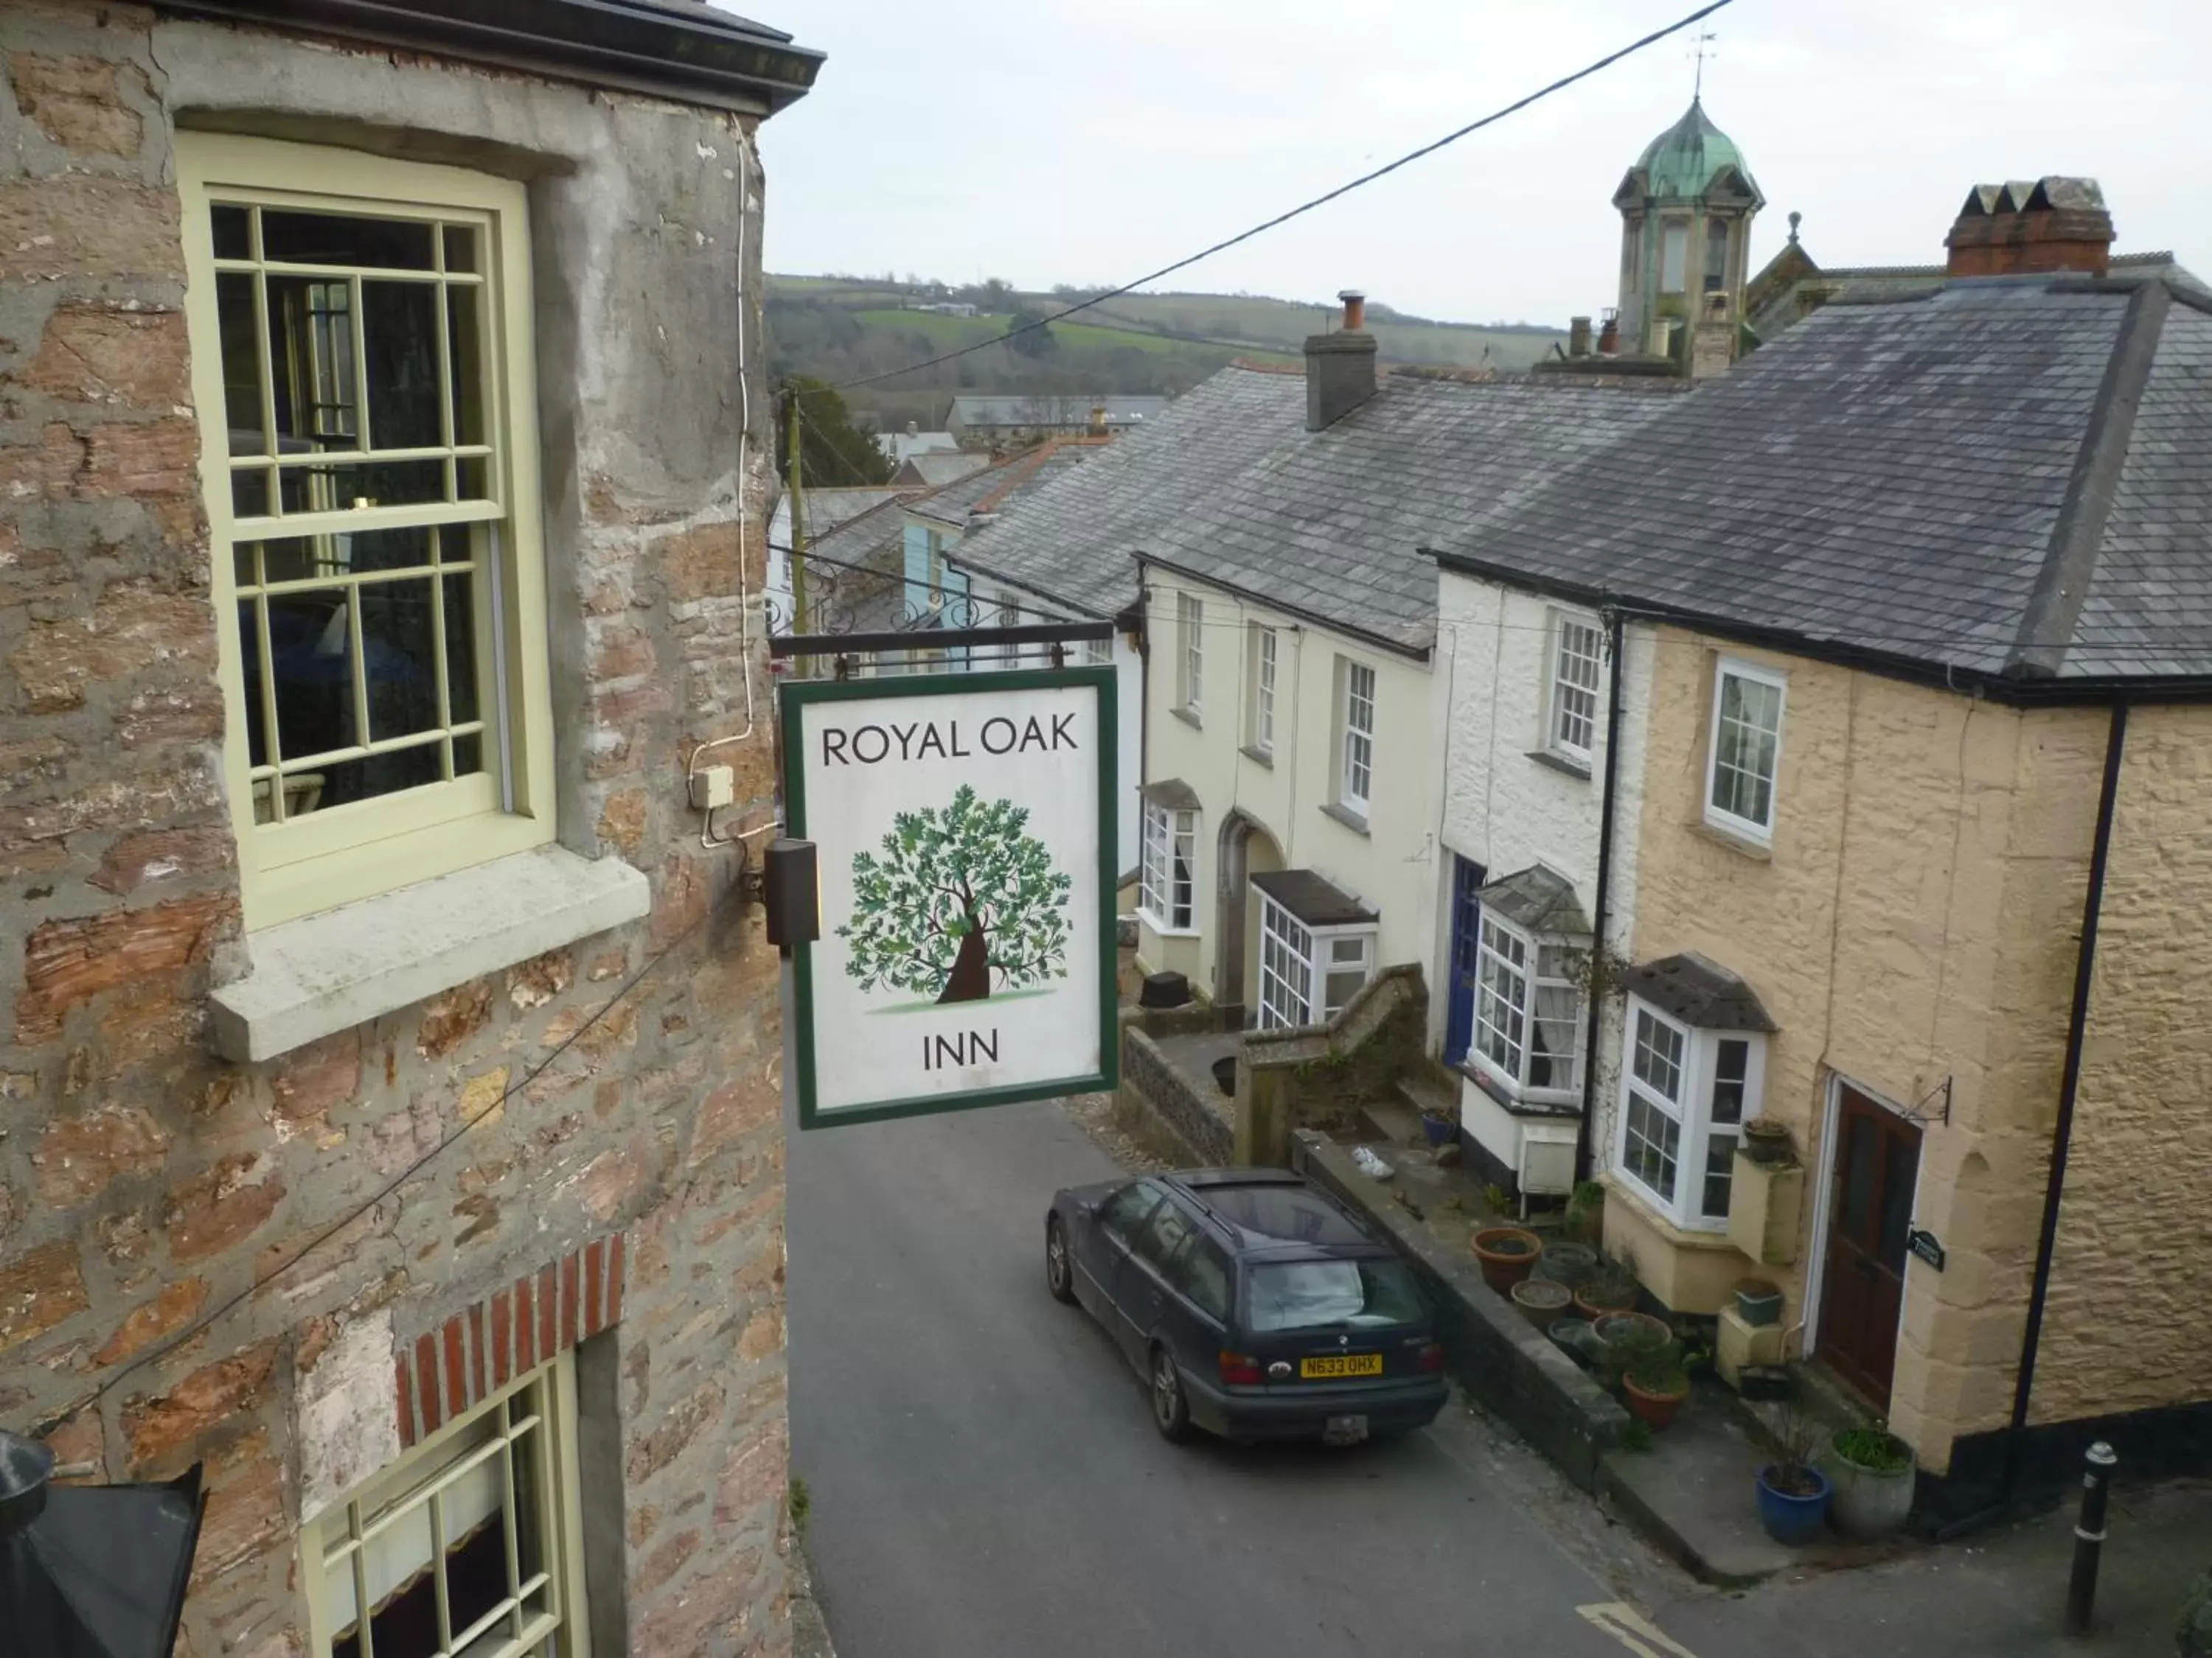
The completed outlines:
{"type": "Polygon", "coordinates": [[[215,1050],[237,1063],[451,990],[635,922],[646,878],[619,858],[533,847],[248,935],[252,970],[215,990],[215,1050]]]}

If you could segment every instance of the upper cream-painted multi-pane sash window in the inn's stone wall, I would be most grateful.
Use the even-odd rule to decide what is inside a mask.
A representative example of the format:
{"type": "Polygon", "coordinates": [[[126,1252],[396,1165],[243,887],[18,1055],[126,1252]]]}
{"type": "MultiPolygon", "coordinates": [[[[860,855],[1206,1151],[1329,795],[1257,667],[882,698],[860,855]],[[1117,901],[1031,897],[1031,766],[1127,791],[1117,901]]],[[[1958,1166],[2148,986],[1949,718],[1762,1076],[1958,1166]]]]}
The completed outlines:
{"type": "Polygon", "coordinates": [[[248,926],[551,840],[522,186],[177,164],[248,926]]]}

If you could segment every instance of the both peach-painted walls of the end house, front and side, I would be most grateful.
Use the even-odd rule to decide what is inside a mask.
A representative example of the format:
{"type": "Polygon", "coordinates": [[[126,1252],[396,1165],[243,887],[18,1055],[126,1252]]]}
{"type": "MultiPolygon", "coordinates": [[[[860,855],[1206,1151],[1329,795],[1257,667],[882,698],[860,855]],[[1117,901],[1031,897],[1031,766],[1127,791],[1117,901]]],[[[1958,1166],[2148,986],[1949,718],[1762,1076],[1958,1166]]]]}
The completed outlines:
{"type": "MultiPolygon", "coordinates": [[[[2004,707],[1652,632],[1635,959],[1701,951],[1741,973],[1778,1026],[1763,1110],[1792,1127],[1809,1169],[1796,1265],[1759,1269],[1785,1287],[1785,1322],[1818,1315],[1807,1276],[1825,1245],[1832,1085],[1924,1108],[1913,1222],[1947,1260],[1907,1262],[1889,1424],[1942,1475],[1960,1441],[2011,1419],[2108,710],[2004,707]],[[1701,820],[1717,654],[1787,674],[1770,851],[1701,820]]],[[[2212,902],[2208,738],[2212,710],[2135,710],[2031,1426],[2212,1393],[2212,1346],[2188,1313],[2212,1289],[2212,1035],[2190,937],[2212,902]]],[[[1608,1132],[1601,1161],[1613,1152],[1608,1132]]],[[[1679,1234],[1610,1185],[1608,1242],[1690,1311],[1752,1269],[1725,1238],[1679,1234]]]]}

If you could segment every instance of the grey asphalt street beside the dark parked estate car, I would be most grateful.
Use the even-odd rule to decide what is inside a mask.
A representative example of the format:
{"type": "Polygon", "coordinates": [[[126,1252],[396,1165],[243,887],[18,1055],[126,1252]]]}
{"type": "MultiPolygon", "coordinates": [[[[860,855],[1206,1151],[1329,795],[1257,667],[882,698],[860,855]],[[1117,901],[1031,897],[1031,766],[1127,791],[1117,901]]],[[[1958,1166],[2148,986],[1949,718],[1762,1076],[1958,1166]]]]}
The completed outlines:
{"type": "Polygon", "coordinates": [[[1619,1594],[1484,1486],[1458,1410],[1354,1452],[1161,1444],[1044,1293],[1051,1192],[1110,1174],[1057,1105],[792,1134],[792,1470],[841,1658],[1663,1654],[1579,1612],[1619,1594]]]}

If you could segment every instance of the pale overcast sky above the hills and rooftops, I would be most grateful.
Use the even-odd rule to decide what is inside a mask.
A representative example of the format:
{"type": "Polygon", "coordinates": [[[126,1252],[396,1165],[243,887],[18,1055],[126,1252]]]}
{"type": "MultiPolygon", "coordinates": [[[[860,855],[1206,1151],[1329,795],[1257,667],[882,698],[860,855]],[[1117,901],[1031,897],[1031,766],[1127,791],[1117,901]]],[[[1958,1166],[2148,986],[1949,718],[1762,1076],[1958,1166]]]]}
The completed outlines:
{"type": "MultiPolygon", "coordinates": [[[[827,51],[761,128],[768,270],[1124,283],[1509,104],[1697,0],[741,0],[827,51]]],[[[1827,265],[1938,263],[1973,183],[2088,175],[2115,248],[2212,276],[2205,0],[1734,0],[1705,113],[1827,265]]],[[[1564,325],[1688,33],[1164,287],[1564,325]]]]}

